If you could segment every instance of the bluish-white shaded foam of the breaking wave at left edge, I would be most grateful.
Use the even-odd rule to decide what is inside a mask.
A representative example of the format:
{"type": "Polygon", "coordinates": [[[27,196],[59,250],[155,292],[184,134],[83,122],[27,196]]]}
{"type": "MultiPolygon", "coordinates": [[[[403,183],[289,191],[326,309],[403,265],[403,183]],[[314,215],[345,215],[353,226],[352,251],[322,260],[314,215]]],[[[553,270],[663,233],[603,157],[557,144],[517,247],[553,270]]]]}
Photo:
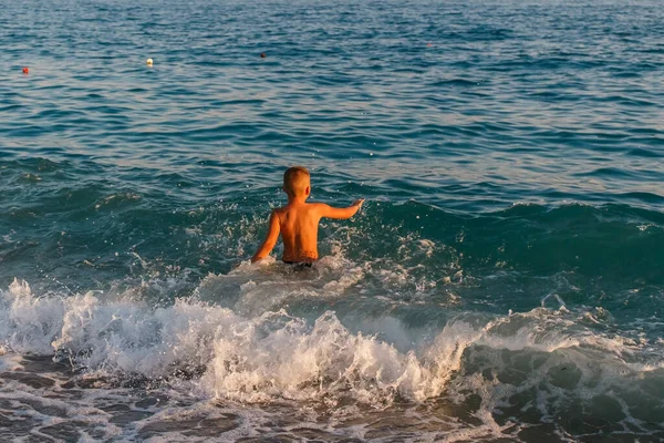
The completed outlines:
{"type": "Polygon", "coordinates": [[[34,297],[14,280],[2,292],[0,338],[14,352],[68,357],[76,367],[160,378],[205,365],[209,341],[236,323],[230,310],[176,300],[151,309],[135,299],[102,302],[92,292],[34,297]]]}

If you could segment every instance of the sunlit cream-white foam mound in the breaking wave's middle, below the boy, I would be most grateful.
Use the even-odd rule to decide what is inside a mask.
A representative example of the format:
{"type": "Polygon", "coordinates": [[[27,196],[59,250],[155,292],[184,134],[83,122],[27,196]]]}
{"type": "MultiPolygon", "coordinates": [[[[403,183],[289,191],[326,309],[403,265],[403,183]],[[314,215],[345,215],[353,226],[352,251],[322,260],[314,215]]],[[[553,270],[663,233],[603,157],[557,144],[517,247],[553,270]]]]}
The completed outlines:
{"type": "MultiPolygon", "coordinates": [[[[250,328],[215,342],[215,359],[204,383],[215,394],[241,401],[323,400],[352,396],[364,403],[388,404],[395,394],[422,401],[438,395],[460,365],[468,330],[444,331],[426,359],[414,351],[351,333],[333,312],[309,327],[281,311],[279,328],[250,328]],[[263,331],[263,332],[261,332],[263,331]],[[454,340],[448,340],[456,337],[454,340]]],[[[463,329],[463,328],[461,328],[463,329]]]]}

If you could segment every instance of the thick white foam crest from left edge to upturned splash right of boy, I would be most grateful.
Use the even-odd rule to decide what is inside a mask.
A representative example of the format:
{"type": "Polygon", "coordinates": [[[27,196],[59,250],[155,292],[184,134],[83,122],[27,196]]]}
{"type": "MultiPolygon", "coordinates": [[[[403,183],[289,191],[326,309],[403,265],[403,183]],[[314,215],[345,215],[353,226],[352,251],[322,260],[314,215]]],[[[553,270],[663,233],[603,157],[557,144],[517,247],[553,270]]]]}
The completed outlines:
{"type": "Polygon", "coordinates": [[[466,328],[464,341],[458,327],[444,331],[421,359],[415,350],[352,333],[331,311],[311,324],[284,310],[246,318],[195,299],[149,308],[132,298],[104,302],[92,292],[34,297],[20,281],[2,297],[0,332],[13,352],[55,354],[110,375],[203,374],[204,396],[242,401],[424,400],[442,392],[475,333],[466,328]]]}

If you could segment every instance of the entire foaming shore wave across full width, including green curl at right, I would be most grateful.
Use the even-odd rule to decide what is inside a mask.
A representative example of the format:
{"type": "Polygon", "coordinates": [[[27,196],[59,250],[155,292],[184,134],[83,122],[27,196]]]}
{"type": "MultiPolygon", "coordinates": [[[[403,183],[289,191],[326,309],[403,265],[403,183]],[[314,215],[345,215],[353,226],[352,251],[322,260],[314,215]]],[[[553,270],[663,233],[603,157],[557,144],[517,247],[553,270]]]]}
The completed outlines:
{"type": "MultiPolygon", "coordinates": [[[[82,377],[146,378],[186,387],[200,400],[313,401],[350,413],[357,404],[383,409],[398,399],[422,403],[447,395],[464,402],[479,395],[475,415],[484,425],[475,436],[499,435],[509,424],[496,411],[509,410],[510,399],[527,392],[535,392],[535,403],[523,408],[544,421],[571,399],[604,395],[625,404],[616,420],[642,426],[647,414],[632,412],[629,399],[662,401],[640,384],[662,377],[661,352],[652,352],[657,343],[599,334],[579,321],[585,313],[564,308],[460,315],[430,339],[391,316],[344,319],[328,310],[309,321],[286,305],[257,308],[274,307],[261,299],[270,285],[281,301],[339,297],[325,289],[330,280],[311,278],[326,271],[313,269],[319,274],[295,277],[300,287],[280,287],[279,272],[253,281],[255,269],[242,265],[165,307],[151,307],[131,290],[125,297],[38,296],[17,280],[0,295],[0,341],[9,354],[55,354],[83,369],[82,377]],[[240,287],[234,306],[241,309],[201,300],[231,285],[240,287]]],[[[8,357],[2,364],[19,368],[8,357]]],[[[457,440],[469,436],[463,431],[457,440]]]]}

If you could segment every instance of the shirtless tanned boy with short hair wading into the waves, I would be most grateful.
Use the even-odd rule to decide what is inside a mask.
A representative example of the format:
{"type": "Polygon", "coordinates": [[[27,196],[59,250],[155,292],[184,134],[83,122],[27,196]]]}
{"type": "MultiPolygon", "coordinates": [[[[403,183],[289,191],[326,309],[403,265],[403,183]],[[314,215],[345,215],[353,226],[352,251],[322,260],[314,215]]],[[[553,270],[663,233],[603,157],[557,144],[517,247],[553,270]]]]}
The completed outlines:
{"type": "Polygon", "coordinates": [[[318,259],[318,224],[322,217],[351,218],[362,207],[364,199],[355,200],[345,208],[335,208],[324,203],[307,203],[311,194],[309,171],[302,166],[289,167],[283,174],[283,192],[288,205],[270,214],[268,236],[251,262],[267,257],[281,234],[283,257],[287,264],[310,264],[318,259]]]}

